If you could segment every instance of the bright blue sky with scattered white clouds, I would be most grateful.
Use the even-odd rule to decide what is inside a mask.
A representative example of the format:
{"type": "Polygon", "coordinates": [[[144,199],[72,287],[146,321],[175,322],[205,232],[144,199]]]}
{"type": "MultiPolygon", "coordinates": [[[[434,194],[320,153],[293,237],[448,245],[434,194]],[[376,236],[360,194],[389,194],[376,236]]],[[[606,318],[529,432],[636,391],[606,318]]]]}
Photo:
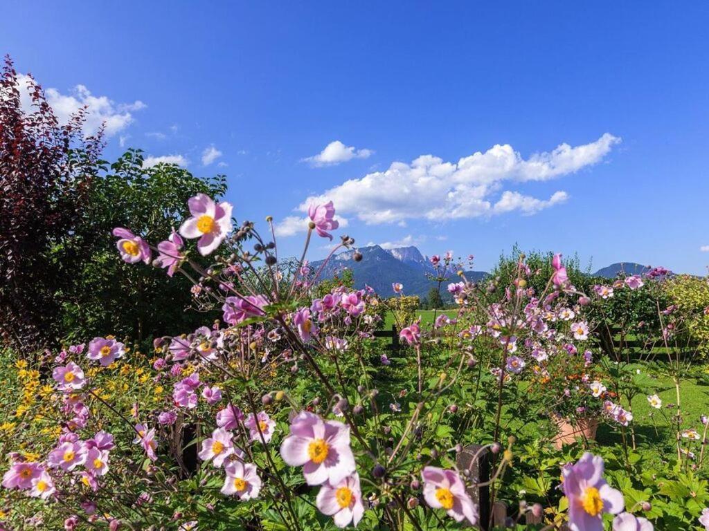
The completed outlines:
{"type": "Polygon", "coordinates": [[[281,253],[333,198],[360,245],[705,273],[709,4],[440,4],[6,1],[0,51],[109,159],[226,173],[281,253]]]}

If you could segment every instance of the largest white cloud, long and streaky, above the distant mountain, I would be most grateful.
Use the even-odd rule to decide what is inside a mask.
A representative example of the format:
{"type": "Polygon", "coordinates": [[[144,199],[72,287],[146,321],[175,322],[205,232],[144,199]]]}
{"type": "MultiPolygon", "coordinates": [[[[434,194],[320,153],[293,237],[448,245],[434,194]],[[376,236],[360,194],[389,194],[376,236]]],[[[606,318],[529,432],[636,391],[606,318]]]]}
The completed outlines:
{"type": "Polygon", "coordinates": [[[489,217],[514,210],[531,215],[564,202],[569,195],[557,191],[548,199],[537,199],[503,190],[506,184],[576,173],[598,164],[619,142],[620,138],[605,133],[595,142],[576,147],[561,144],[526,160],[509,144],[497,144],[457,162],[422,155],[411,164],[394,162],[386,171],[350,179],[313,195],[297,210],[306,212],[313,202],[332,200],[338,215],[356,215],[367,224],[489,217]]]}

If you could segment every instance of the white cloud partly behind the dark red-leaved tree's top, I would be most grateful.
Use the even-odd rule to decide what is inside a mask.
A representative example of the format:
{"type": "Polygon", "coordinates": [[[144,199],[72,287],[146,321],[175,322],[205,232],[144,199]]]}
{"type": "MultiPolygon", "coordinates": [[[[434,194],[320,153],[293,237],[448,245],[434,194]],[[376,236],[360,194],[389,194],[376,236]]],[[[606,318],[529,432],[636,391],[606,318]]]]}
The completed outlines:
{"type": "MultiPolygon", "coordinates": [[[[21,101],[25,112],[32,110],[32,99],[27,90],[30,77],[19,74],[21,101]]],[[[104,125],[106,137],[112,137],[133,123],[133,113],[147,105],[140,100],[133,103],[116,103],[108,96],[94,96],[84,85],[77,85],[69,94],[62,94],[57,89],[45,89],[45,97],[54,110],[60,125],[65,125],[81,108],[86,107],[84,135],[93,135],[104,125]]]]}

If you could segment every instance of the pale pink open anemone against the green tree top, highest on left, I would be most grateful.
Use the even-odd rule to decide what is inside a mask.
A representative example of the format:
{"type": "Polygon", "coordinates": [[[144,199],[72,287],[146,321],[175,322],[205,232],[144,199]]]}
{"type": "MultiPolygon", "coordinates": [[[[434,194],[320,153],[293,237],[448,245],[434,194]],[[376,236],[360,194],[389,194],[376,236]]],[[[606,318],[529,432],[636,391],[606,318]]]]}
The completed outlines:
{"type": "Polygon", "coordinates": [[[232,230],[232,205],[223,201],[217,204],[203,193],[187,201],[192,217],[185,220],[179,233],[185,238],[199,238],[197,250],[202,256],[213,252],[232,230]]]}

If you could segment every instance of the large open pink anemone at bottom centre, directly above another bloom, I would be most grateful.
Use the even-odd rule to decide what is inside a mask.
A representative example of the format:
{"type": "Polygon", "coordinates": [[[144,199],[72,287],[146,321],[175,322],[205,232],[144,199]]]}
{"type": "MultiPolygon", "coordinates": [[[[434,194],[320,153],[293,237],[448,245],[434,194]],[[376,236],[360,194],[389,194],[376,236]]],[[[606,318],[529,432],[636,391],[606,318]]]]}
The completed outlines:
{"type": "Polygon", "coordinates": [[[338,484],[355,470],[350,428],[301,411],[291,421],[291,435],[281,444],[281,457],[291,467],[303,467],[308,485],[338,484]]]}

